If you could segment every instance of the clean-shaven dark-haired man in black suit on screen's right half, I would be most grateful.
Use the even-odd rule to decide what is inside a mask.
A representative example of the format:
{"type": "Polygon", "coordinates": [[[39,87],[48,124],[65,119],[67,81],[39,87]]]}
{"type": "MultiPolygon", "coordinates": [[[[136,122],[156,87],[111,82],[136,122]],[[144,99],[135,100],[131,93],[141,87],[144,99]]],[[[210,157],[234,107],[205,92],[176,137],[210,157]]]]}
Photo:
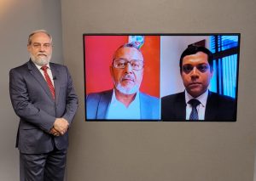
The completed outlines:
{"type": "Polygon", "coordinates": [[[212,53],[204,47],[189,46],[179,66],[185,91],[161,99],[164,121],[236,121],[236,101],[208,90],[212,78],[212,53]]]}

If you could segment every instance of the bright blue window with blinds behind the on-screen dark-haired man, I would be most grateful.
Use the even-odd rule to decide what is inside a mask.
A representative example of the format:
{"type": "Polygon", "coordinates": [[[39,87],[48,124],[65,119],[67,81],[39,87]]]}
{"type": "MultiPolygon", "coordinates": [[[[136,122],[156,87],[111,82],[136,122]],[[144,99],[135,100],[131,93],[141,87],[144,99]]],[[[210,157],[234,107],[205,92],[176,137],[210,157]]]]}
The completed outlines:
{"type": "Polygon", "coordinates": [[[236,98],[238,36],[211,36],[210,50],[215,58],[216,92],[236,98]]]}

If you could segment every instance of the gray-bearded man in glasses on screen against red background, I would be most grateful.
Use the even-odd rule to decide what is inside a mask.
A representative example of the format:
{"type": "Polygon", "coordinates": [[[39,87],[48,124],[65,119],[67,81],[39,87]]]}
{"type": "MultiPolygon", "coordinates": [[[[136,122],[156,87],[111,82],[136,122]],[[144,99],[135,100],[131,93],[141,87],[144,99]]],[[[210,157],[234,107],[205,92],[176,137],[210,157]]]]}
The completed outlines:
{"type": "Polygon", "coordinates": [[[160,120],[160,100],[139,91],[143,66],[143,54],[135,44],[119,47],[110,66],[113,89],[87,96],[86,119],[160,120]]]}

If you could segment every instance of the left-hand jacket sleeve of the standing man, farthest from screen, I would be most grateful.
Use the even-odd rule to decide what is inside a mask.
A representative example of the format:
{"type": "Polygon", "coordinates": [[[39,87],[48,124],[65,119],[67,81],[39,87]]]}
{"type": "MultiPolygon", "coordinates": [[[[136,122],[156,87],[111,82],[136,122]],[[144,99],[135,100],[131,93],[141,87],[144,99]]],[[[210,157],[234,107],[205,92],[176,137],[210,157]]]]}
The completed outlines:
{"type": "Polygon", "coordinates": [[[55,116],[49,115],[44,110],[32,104],[29,98],[26,80],[24,76],[15,69],[9,71],[9,93],[17,116],[20,116],[23,121],[32,123],[32,125],[45,132],[49,132],[55,122],[55,116]]]}

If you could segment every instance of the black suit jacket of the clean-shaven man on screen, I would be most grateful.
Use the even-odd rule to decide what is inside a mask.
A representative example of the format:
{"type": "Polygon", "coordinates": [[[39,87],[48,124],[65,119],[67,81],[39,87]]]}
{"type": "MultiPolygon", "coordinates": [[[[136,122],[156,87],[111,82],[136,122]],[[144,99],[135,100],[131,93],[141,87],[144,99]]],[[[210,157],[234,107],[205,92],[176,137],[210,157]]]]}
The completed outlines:
{"type": "MultiPolygon", "coordinates": [[[[185,93],[168,95],[161,99],[164,121],[186,121],[185,93]]],[[[209,92],[205,113],[206,121],[236,121],[236,101],[228,96],[209,92]]]]}

